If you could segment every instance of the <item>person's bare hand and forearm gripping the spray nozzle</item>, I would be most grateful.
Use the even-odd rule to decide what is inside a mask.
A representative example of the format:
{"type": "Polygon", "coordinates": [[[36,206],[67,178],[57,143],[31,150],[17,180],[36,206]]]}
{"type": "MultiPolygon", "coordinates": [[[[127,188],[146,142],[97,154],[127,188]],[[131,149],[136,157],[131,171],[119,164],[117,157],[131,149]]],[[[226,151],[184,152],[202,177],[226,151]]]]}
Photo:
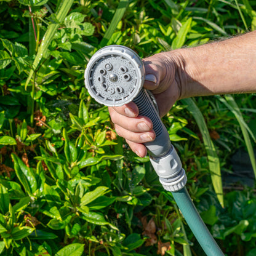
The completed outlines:
{"type": "MultiPolygon", "coordinates": [[[[177,100],[188,97],[256,92],[256,31],[203,46],[162,52],[145,58],[144,87],[152,90],[164,116],[177,100]]],[[[154,140],[149,118],[135,103],[110,107],[119,136],[132,151],[146,156],[145,142],[154,140]]]]}

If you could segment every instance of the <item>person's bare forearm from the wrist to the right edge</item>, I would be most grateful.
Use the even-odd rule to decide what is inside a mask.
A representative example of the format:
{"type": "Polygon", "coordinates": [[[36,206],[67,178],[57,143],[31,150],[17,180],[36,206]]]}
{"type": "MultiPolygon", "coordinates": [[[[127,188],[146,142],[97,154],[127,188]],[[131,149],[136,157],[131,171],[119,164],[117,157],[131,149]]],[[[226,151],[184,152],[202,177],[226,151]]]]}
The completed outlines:
{"type": "Polygon", "coordinates": [[[176,54],[180,98],[256,92],[256,31],[176,54]]]}

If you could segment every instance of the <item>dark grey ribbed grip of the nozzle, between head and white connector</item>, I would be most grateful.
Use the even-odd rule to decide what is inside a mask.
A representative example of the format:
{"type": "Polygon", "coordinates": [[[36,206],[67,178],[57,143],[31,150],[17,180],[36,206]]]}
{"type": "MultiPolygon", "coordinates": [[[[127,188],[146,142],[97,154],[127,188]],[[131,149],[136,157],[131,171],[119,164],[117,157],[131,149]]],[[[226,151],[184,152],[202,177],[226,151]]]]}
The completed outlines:
{"type": "Polygon", "coordinates": [[[167,154],[171,148],[169,134],[166,127],[159,117],[158,111],[153,105],[150,96],[145,89],[140,90],[133,102],[138,106],[141,116],[146,116],[153,122],[153,130],[156,138],[153,142],[146,142],[144,145],[148,149],[151,156],[161,157],[167,154]]]}

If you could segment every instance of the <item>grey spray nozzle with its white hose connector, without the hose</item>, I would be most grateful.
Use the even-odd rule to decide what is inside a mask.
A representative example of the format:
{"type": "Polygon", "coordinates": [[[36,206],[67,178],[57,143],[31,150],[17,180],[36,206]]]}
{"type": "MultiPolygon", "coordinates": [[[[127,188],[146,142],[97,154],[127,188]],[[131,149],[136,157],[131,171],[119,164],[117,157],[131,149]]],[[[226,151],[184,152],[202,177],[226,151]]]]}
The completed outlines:
{"type": "Polygon", "coordinates": [[[122,106],[133,101],[139,114],[151,119],[156,139],[144,143],[151,164],[166,190],[181,190],[186,184],[185,170],[158,111],[143,89],[145,68],[140,57],[125,46],[103,47],[90,58],[84,78],[89,94],[98,103],[122,106]]]}

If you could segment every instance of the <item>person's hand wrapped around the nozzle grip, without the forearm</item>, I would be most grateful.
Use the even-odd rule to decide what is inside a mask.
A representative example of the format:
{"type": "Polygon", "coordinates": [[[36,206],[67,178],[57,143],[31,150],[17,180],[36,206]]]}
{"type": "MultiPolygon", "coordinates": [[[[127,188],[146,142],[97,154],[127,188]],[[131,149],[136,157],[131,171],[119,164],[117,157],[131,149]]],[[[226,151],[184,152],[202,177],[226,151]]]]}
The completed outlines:
{"type": "MultiPolygon", "coordinates": [[[[156,54],[143,60],[145,66],[144,87],[154,94],[158,103],[159,115],[168,113],[180,97],[180,79],[177,73],[177,58],[165,53],[156,54]]],[[[145,116],[138,115],[134,102],[119,107],[109,107],[111,120],[119,136],[124,137],[134,153],[146,156],[145,142],[155,138],[153,124],[145,116]]]]}

